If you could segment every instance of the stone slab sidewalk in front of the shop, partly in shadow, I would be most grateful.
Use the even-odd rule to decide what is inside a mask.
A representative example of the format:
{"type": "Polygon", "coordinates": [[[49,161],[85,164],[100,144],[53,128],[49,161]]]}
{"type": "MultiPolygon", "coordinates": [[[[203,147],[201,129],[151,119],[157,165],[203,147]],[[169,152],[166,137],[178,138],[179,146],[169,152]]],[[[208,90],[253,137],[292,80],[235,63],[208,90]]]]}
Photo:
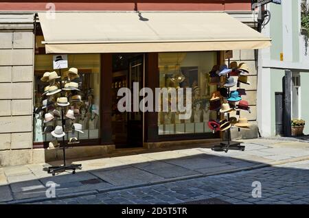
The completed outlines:
{"type": "Polygon", "coordinates": [[[60,173],[53,177],[43,170],[58,162],[3,167],[0,168],[0,203],[46,199],[49,181],[59,184],[56,197],[68,198],[309,160],[309,143],[273,139],[242,142],[246,146],[244,152],[213,152],[200,145],[79,160],[76,162],[82,164],[82,170],[75,175],[60,173]]]}

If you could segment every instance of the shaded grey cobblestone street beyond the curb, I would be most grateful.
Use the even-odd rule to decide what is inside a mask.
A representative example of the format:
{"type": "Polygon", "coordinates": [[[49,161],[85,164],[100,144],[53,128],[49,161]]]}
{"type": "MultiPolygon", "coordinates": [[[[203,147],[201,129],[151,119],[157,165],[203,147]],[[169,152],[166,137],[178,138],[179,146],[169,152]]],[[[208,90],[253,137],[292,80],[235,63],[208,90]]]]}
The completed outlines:
{"type": "Polygon", "coordinates": [[[306,160],[35,204],[181,204],[202,199],[220,199],[229,204],[308,204],[308,171],[306,160]],[[255,181],[262,184],[260,198],[252,197],[255,181]]]}

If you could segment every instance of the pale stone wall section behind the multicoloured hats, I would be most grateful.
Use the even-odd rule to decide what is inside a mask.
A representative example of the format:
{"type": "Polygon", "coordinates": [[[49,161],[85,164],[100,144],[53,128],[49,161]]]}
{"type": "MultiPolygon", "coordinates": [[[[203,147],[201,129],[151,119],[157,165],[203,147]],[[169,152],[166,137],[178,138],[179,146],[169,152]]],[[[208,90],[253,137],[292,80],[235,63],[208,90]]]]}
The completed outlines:
{"type": "MultiPolygon", "coordinates": [[[[231,90],[236,90],[237,88],[246,89],[247,95],[242,96],[243,100],[249,102],[251,113],[241,110],[240,117],[247,117],[249,123],[251,124],[251,130],[240,130],[232,129],[231,138],[258,138],[258,123],[257,123],[257,85],[258,85],[258,71],[256,67],[256,60],[254,55],[254,50],[234,50],[233,58],[230,62],[236,61],[238,64],[241,62],[246,63],[250,68],[250,73],[248,75],[248,81],[251,85],[240,84],[240,87],[234,86],[231,90]]],[[[227,61],[226,61],[227,62],[227,61]]],[[[234,77],[237,81],[238,77],[234,77]]],[[[237,117],[236,112],[231,112],[230,117],[237,117]]]]}

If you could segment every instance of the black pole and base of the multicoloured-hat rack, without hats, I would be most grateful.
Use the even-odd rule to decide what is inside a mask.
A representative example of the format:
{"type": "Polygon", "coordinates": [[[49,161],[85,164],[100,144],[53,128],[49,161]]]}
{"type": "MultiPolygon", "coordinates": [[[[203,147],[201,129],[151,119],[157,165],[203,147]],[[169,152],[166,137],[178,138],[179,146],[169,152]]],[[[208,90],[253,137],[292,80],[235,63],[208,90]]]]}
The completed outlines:
{"type": "MultiPolygon", "coordinates": [[[[230,62],[230,59],[229,59],[230,62]]],[[[228,63],[229,63],[228,62],[228,63]]],[[[229,78],[229,74],[227,74],[227,78],[229,78]]],[[[227,95],[230,95],[230,90],[227,88],[227,95]]],[[[227,113],[227,120],[229,121],[229,113],[227,113]]],[[[215,152],[225,152],[227,153],[229,150],[238,150],[244,152],[245,146],[240,145],[239,142],[231,141],[231,128],[227,130],[227,141],[222,141],[220,145],[214,145],[211,150],[215,152]]]]}

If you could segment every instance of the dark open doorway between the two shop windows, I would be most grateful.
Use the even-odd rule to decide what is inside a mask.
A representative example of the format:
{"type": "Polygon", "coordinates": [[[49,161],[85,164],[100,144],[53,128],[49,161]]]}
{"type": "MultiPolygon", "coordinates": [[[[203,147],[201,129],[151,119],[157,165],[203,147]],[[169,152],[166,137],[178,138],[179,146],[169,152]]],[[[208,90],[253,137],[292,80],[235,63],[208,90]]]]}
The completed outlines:
{"type": "MultiPolygon", "coordinates": [[[[142,112],[119,112],[117,104],[122,97],[117,96],[119,88],[129,88],[133,94],[133,83],[144,87],[144,54],[117,53],[113,55],[112,88],[112,128],[113,142],[116,148],[142,147],[143,122],[142,112]]],[[[132,96],[132,95],[131,95],[132,96]]],[[[132,97],[133,101],[133,97],[132,97]]],[[[133,110],[132,110],[133,111],[133,110]]]]}

